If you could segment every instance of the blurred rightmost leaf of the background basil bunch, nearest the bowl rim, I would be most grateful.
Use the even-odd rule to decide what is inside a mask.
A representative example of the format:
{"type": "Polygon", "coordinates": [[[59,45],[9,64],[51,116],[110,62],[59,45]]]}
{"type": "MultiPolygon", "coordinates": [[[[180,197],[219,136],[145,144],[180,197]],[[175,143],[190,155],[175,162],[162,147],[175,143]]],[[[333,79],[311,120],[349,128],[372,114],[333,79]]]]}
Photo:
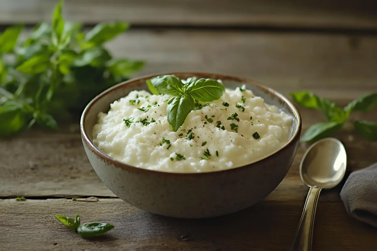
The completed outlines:
{"type": "Polygon", "coordinates": [[[129,59],[117,59],[113,61],[108,69],[114,77],[127,77],[131,73],[144,67],[144,61],[132,61],[129,59]]]}

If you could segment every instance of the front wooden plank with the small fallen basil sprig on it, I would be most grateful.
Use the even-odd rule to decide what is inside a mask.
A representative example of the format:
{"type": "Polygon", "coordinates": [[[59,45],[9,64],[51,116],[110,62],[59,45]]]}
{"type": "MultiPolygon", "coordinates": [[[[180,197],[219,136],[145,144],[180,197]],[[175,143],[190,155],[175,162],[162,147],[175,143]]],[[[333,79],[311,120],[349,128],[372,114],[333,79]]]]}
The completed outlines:
{"type": "MultiPolygon", "coordinates": [[[[304,201],[264,201],[239,213],[185,220],[150,214],[120,199],[77,202],[67,199],[0,200],[0,225],[6,228],[0,250],[274,250],[290,249],[304,201]],[[86,240],[54,218],[110,222],[106,237],[86,240]],[[11,221],[10,219],[17,219],[11,221]]],[[[377,230],[351,219],[342,202],[320,202],[313,250],[374,250],[377,230]]]]}

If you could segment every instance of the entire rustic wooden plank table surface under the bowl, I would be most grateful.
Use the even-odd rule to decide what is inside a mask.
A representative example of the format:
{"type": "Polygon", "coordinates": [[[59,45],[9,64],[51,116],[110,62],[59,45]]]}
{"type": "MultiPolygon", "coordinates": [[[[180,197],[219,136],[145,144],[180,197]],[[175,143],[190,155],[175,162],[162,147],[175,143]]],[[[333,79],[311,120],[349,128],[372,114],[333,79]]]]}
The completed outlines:
{"type": "MultiPolygon", "coordinates": [[[[9,18],[27,23],[46,19],[52,5],[47,0],[0,2],[0,24],[11,23],[9,18]],[[48,10],[37,8],[41,3],[48,10]]],[[[336,1],[297,5],[235,0],[231,5],[164,0],[153,8],[151,0],[110,2],[112,9],[103,8],[99,0],[90,5],[67,0],[67,16],[86,23],[112,19],[114,13],[127,16],[135,28],[109,48],[119,56],[147,61],[135,76],[164,71],[228,73],[285,95],[314,90],[341,106],[377,91],[377,19],[375,9],[363,1],[343,1],[339,6],[336,1]]],[[[324,120],[318,111],[300,113],[303,131],[324,120]]],[[[377,122],[376,113],[377,108],[352,118],[377,122]]],[[[377,143],[353,132],[342,131],[336,137],[348,153],[346,176],[377,161],[377,143]]],[[[150,214],[116,198],[90,166],[78,123],[62,125],[59,132],[37,128],[2,139],[0,250],[289,250],[308,191],[299,178],[305,149],[302,144],[285,179],[260,203],[219,218],[183,220],[150,214]],[[17,196],[27,199],[16,201],[17,196]],[[72,201],[88,196],[99,201],[72,201]],[[86,240],[54,218],[77,213],[82,222],[110,222],[115,229],[86,240]]],[[[375,250],[377,230],[346,214],[339,197],[342,185],[320,196],[313,249],[375,250]]]]}

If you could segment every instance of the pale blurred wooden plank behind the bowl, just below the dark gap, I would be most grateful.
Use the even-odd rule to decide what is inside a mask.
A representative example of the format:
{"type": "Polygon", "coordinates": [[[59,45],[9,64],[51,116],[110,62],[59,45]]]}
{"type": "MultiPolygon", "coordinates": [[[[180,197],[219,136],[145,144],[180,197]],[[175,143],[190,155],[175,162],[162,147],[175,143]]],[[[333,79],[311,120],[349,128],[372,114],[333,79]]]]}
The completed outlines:
{"type": "Polygon", "coordinates": [[[377,37],[134,30],[108,46],[119,57],[146,60],[135,76],[209,71],[250,78],[283,94],[311,89],[333,99],[377,90],[377,37]]]}

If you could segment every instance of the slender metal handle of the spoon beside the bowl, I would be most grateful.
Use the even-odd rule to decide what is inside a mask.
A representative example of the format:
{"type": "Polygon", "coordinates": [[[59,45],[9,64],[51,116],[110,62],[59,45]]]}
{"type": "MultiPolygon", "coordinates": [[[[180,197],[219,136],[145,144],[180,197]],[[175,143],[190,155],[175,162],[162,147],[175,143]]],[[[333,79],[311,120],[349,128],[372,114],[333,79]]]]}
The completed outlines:
{"type": "Polygon", "coordinates": [[[322,188],[310,187],[304,209],[302,211],[299,227],[293,242],[292,251],[311,251],[313,239],[314,216],[316,214],[319,193],[322,188]]]}

